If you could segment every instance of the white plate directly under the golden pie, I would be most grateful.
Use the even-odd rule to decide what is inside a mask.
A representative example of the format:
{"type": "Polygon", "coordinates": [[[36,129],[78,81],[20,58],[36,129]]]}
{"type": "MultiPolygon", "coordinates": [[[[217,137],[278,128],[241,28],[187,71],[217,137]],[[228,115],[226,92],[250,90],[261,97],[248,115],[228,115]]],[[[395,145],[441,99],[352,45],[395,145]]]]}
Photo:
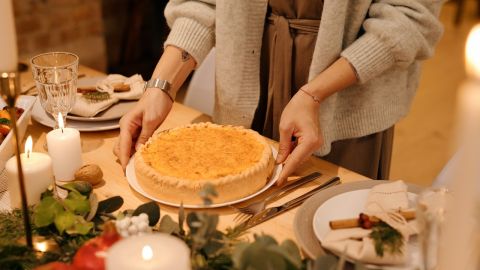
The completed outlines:
{"type": "MultiPolygon", "coordinates": [[[[272,152],[273,152],[274,158],[276,158],[277,149],[272,147],[272,152]]],[[[159,202],[159,203],[165,204],[165,205],[180,207],[179,203],[158,199],[158,198],[148,194],[145,190],[143,190],[143,188],[140,186],[140,184],[137,181],[137,177],[135,175],[135,165],[134,165],[133,160],[134,160],[134,156],[132,156],[132,158],[130,158],[130,161],[128,162],[127,169],[126,169],[126,177],[127,177],[127,181],[130,184],[130,186],[135,191],[142,194],[144,197],[149,198],[153,201],[156,201],[156,202],[159,202]]],[[[211,204],[209,206],[205,206],[203,204],[184,204],[183,207],[185,207],[185,208],[218,208],[218,207],[229,206],[229,205],[233,205],[233,204],[237,204],[237,203],[249,200],[249,199],[251,199],[255,196],[260,195],[261,193],[263,193],[267,189],[269,189],[275,183],[275,181],[277,181],[277,178],[280,175],[281,171],[282,171],[282,165],[281,164],[275,165],[275,167],[273,168],[273,173],[272,173],[272,177],[270,178],[270,181],[268,181],[268,183],[262,189],[260,189],[259,191],[255,192],[255,193],[253,193],[249,196],[243,197],[241,199],[233,200],[233,201],[229,201],[229,202],[223,202],[223,203],[214,203],[214,204],[211,204]]]]}

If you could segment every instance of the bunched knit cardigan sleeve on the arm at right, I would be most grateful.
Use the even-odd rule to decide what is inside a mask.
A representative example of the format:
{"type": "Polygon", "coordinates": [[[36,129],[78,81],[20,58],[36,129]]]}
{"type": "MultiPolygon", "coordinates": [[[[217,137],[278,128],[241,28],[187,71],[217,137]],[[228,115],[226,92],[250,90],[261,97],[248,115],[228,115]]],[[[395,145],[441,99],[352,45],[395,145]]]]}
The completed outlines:
{"type": "Polygon", "coordinates": [[[392,66],[406,68],[431,57],[443,27],[441,0],[374,0],[363,23],[364,34],[341,55],[355,68],[360,83],[392,66]]]}

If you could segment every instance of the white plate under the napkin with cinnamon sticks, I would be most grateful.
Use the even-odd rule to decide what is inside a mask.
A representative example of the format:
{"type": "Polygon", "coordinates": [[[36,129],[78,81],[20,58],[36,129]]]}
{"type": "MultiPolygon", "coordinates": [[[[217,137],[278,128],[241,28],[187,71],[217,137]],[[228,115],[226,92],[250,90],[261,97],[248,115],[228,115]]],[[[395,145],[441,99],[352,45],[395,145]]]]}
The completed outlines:
{"type": "MultiPolygon", "coordinates": [[[[348,219],[348,218],[355,218],[358,217],[360,213],[362,213],[365,209],[365,203],[367,201],[368,193],[370,189],[359,189],[348,191],[345,193],[338,194],[328,200],[326,200],[323,204],[321,204],[315,214],[313,215],[313,231],[315,233],[316,238],[322,243],[322,240],[325,236],[331,231],[329,222],[332,220],[339,220],[339,219],[348,219]]],[[[415,206],[415,200],[417,198],[417,194],[408,192],[408,201],[409,207],[413,208],[415,206]]],[[[410,238],[408,241],[408,258],[407,262],[410,263],[417,263],[419,258],[419,249],[418,243],[416,238],[410,238]]],[[[333,252],[333,251],[332,251],[333,252]]],[[[340,256],[341,254],[335,254],[340,256]]],[[[348,258],[346,258],[349,260],[348,258]]],[[[413,264],[415,265],[415,264],[413,264]]],[[[376,265],[372,265],[375,267],[380,267],[376,265]]],[[[382,269],[410,269],[405,268],[405,266],[401,267],[388,267],[382,266],[382,269]]]]}

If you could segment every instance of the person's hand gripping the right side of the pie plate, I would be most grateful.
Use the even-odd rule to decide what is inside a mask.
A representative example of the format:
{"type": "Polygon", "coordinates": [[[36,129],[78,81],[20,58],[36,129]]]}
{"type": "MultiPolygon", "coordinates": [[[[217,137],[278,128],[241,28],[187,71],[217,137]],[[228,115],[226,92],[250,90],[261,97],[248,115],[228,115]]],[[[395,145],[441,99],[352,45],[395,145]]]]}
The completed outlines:
{"type": "Polygon", "coordinates": [[[284,163],[277,185],[283,185],[315,150],[323,144],[318,124],[320,104],[311,96],[298,91],[287,104],[280,118],[280,144],[276,163],[284,163]],[[296,145],[292,137],[297,139],[296,145]]]}

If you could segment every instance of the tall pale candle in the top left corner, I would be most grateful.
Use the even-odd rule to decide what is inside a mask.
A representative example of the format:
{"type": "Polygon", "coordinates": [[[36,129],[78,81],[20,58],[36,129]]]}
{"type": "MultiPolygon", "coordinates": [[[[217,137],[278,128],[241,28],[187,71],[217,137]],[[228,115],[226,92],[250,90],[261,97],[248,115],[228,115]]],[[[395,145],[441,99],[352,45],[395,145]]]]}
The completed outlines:
{"type": "Polygon", "coordinates": [[[16,71],[17,37],[11,0],[0,0],[0,72],[16,71]]]}

